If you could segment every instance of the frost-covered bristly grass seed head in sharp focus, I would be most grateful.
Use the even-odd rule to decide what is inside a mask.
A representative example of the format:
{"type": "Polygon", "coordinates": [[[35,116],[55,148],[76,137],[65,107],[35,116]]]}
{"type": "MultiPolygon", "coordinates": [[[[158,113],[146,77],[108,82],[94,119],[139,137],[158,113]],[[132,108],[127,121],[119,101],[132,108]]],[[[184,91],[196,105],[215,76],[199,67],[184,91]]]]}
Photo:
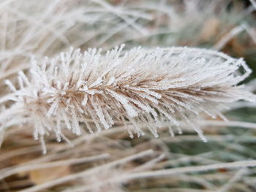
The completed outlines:
{"type": "Polygon", "coordinates": [[[0,115],[0,123],[16,117],[12,124],[26,120],[36,139],[54,131],[60,141],[63,128],[80,135],[83,126],[93,133],[122,123],[130,137],[140,137],[143,123],[158,137],[157,128],[166,125],[170,134],[173,128],[181,134],[183,122],[206,141],[198,118],[224,118],[220,110],[227,103],[254,101],[238,85],[250,73],[242,59],[187,47],[123,48],[105,54],[70,49],[31,61],[29,74],[18,74],[19,88],[7,80],[15,104],[0,115]]]}

